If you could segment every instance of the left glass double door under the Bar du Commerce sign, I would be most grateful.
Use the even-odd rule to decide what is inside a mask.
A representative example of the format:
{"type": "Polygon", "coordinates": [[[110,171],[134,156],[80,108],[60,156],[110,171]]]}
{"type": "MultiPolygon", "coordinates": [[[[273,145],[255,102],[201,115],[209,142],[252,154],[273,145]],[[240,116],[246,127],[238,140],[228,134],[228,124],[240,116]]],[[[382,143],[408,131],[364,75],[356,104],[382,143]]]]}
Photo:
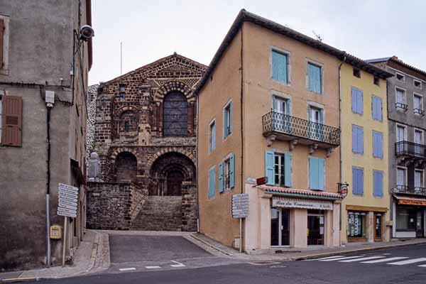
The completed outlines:
{"type": "Polygon", "coordinates": [[[290,210],[271,208],[271,246],[290,246],[290,210]]]}

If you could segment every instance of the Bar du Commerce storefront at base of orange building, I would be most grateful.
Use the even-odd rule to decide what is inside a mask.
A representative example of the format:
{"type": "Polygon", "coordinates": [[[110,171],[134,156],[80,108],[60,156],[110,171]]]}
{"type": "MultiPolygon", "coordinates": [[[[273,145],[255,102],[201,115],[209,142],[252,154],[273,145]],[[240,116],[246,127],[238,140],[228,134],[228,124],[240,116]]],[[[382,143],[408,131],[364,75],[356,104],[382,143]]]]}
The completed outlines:
{"type": "Polygon", "coordinates": [[[340,195],[283,187],[256,193],[246,219],[249,251],[339,246],[340,195]]]}

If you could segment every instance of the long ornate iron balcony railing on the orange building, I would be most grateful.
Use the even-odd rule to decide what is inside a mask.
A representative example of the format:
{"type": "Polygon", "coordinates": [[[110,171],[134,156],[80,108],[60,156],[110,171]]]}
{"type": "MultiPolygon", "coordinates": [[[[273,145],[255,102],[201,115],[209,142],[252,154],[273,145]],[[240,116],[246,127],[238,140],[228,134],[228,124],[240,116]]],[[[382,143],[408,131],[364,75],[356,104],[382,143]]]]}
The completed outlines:
{"type": "Polygon", "coordinates": [[[318,143],[325,143],[332,147],[340,145],[340,129],[316,122],[299,119],[287,114],[271,111],[262,116],[263,136],[283,134],[318,143]]]}

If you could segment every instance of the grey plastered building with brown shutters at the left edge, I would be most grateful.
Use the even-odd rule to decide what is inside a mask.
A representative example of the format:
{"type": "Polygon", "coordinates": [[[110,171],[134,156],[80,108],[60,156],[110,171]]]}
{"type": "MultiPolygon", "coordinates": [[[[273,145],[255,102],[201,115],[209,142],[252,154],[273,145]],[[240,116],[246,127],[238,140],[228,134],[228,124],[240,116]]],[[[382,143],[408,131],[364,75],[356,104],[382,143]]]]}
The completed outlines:
{"type": "Polygon", "coordinates": [[[90,5],[0,0],[0,271],[60,263],[50,225],[67,222],[67,260],[82,240],[90,5]],[[80,188],[75,218],[57,214],[60,182],[80,188]]]}

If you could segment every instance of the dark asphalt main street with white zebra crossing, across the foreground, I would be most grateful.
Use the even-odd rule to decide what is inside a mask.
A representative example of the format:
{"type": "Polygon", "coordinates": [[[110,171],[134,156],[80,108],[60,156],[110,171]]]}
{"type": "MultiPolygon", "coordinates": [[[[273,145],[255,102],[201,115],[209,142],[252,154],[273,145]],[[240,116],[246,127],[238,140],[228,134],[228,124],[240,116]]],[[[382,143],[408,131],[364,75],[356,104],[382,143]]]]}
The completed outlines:
{"type": "Polygon", "coordinates": [[[74,283],[297,283],[297,284],[425,284],[426,246],[348,254],[341,257],[279,263],[239,263],[175,270],[104,273],[39,281],[74,283]]]}

